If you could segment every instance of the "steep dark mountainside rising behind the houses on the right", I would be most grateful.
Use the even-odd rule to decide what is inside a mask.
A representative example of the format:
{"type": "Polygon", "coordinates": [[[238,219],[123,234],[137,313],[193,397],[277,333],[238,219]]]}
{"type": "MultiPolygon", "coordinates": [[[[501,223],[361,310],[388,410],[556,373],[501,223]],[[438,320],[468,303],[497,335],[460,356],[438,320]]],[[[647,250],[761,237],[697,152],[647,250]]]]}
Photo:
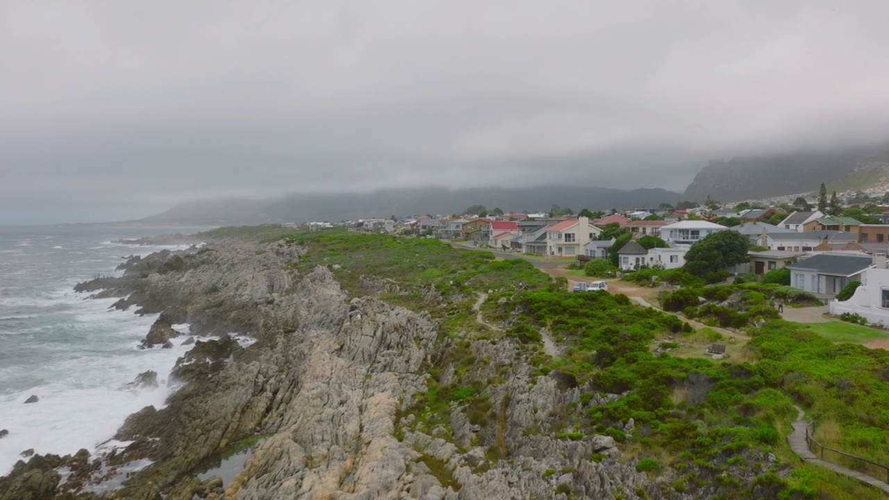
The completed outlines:
{"type": "MultiPolygon", "coordinates": [[[[856,165],[867,162],[887,149],[885,145],[843,149],[831,152],[799,152],[764,157],[736,157],[729,161],[711,160],[685,189],[684,199],[703,201],[709,195],[722,201],[773,198],[818,190],[828,185],[867,182],[843,181],[856,165]]],[[[860,189],[858,186],[855,189],[860,189]]]]}

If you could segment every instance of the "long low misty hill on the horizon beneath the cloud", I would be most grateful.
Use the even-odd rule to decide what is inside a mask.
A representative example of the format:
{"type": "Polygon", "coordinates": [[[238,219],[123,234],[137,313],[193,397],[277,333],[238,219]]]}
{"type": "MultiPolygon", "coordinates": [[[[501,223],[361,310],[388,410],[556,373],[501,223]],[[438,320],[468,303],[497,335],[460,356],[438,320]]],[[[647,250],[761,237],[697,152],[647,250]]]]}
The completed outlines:
{"type": "Polygon", "coordinates": [[[460,214],[473,205],[504,211],[549,210],[553,204],[590,210],[675,204],[679,193],[661,189],[612,190],[580,186],[526,189],[444,187],[378,190],[371,193],[293,194],[267,200],[229,198],[193,201],[139,222],[148,224],[253,224],[260,222],[346,221],[412,214],[460,214]]]}

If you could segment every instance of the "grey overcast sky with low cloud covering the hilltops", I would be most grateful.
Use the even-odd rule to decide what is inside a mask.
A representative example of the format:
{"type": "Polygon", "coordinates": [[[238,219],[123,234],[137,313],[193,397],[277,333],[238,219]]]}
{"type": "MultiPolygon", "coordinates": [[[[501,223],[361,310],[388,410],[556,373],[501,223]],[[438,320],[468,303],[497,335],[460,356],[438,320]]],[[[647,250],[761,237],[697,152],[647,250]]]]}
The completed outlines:
{"type": "MultiPolygon", "coordinates": [[[[0,223],[885,140],[889,2],[0,0],[0,223]]],[[[555,203],[555,201],[554,201],[555,203]]]]}

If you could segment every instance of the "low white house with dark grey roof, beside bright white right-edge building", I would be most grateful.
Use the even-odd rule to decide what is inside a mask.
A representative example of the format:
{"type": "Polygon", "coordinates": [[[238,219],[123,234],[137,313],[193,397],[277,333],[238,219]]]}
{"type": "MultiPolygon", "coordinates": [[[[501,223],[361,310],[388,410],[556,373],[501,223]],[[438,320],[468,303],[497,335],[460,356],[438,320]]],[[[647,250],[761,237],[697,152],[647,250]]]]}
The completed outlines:
{"type": "Polygon", "coordinates": [[[790,286],[832,297],[849,281],[861,281],[861,273],[874,266],[870,257],[818,254],[787,266],[790,286]]]}

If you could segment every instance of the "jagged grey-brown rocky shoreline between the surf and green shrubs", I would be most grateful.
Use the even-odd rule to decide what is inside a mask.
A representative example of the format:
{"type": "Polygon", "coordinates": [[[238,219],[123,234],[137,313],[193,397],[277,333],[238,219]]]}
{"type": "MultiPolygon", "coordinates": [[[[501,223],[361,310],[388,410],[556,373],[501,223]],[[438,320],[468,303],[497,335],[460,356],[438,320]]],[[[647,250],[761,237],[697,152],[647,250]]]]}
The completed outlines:
{"type": "Polygon", "coordinates": [[[715,494],[717,475],[768,496],[767,486],[751,485],[770,466],[766,456],[747,457],[757,467],[701,467],[701,486],[682,492],[670,486],[677,472],[638,471],[613,437],[552,435],[554,412],[582,411],[580,392],[557,375],[533,375],[512,343],[472,332],[461,342],[490,360],[470,367],[473,375],[505,380],[490,389],[495,418],[472,423],[454,407],[449,422],[427,431],[416,424],[415,394],[427,391],[429,367],[452,376],[453,340],[439,335],[428,313],[382,300],[367,285],[373,279],[365,294],[349,298],[334,270],[297,270],[292,262],[307,251],[216,241],[132,257],[123,276],[78,284],[77,292],[117,298],[117,309],[159,314],[143,347],[163,346],[172,325],[188,323],[195,346],[171,374],[182,386],[166,407],[131,415],[115,436],[130,444],[112,455],[23,457],[0,478],[0,500],[690,499],[715,494]],[[235,334],[256,342],[244,348],[235,334]],[[202,338],[209,335],[219,338],[202,338]],[[259,444],[234,480],[198,478],[202,464],[244,440],[259,444]],[[147,466],[128,472],[119,488],[96,488],[132,464],[147,466]]]}

